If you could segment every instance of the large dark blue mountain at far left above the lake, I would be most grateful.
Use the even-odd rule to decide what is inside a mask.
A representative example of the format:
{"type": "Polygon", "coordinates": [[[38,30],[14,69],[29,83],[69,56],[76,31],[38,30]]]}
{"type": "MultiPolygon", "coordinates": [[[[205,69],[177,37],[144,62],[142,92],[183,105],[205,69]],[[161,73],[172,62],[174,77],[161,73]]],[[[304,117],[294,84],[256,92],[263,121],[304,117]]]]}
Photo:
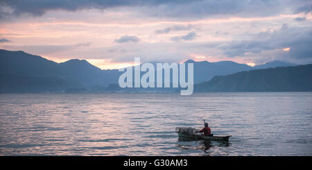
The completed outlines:
{"type": "Polygon", "coordinates": [[[107,86],[103,71],[86,60],[57,63],[0,49],[0,92],[60,92],[107,86]]]}

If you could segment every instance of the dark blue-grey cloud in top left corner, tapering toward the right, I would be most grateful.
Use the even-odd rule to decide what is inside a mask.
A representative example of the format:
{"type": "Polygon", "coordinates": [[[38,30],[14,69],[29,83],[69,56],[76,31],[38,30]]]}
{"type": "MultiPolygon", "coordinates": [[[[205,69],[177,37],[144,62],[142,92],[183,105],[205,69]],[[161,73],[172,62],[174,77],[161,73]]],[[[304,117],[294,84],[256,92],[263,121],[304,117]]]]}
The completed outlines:
{"type": "MultiPolygon", "coordinates": [[[[199,0],[198,0],[199,1],[199,0]]],[[[98,1],[98,0],[13,0],[13,1],[1,1],[0,4],[6,9],[9,9],[10,12],[1,10],[0,13],[3,14],[15,14],[23,15],[30,14],[33,16],[41,16],[44,13],[51,10],[67,10],[67,11],[76,11],[76,10],[85,10],[85,9],[100,9],[105,10],[107,8],[116,8],[116,7],[133,7],[133,6],[159,6],[164,3],[174,5],[175,3],[189,3],[188,1],[177,1],[177,0],[168,0],[168,1],[142,1],[142,0],[115,0],[115,1],[98,1]]]]}

